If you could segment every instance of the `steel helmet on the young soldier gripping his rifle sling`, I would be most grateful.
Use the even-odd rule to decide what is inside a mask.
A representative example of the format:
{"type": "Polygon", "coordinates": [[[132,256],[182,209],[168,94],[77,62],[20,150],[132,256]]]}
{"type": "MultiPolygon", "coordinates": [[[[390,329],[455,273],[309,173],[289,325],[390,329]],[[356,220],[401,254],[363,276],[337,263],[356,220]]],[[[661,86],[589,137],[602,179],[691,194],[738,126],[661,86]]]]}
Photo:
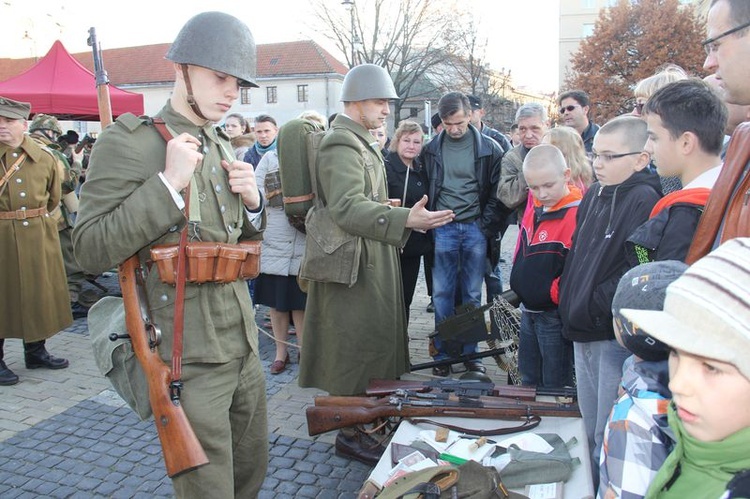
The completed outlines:
{"type": "Polygon", "coordinates": [[[234,76],[242,87],[258,86],[253,34],[245,23],[224,12],[193,16],[177,34],[166,58],[234,76]]]}

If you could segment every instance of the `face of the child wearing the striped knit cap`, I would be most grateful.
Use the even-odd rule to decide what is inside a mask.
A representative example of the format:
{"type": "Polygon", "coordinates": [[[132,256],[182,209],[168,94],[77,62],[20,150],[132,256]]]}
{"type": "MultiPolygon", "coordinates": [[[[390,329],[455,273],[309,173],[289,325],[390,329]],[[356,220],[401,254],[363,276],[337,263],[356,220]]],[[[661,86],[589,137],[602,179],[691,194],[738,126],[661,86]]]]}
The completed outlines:
{"type": "Polygon", "coordinates": [[[669,389],[693,438],[718,442],[750,427],[750,380],[732,364],[673,350],[669,389]]]}

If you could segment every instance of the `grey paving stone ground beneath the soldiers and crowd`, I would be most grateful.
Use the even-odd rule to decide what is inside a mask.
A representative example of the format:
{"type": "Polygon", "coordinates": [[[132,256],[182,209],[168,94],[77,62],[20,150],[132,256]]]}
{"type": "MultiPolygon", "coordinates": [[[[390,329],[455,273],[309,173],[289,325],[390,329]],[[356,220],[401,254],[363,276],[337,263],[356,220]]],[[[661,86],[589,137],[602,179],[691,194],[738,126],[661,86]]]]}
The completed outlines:
{"type": "MultiPolygon", "coordinates": [[[[517,230],[503,240],[510,262],[517,230]]],[[[503,264],[507,289],[509,264],[503,264]]],[[[98,282],[118,290],[117,277],[105,274],[98,282]]],[[[87,287],[90,285],[87,284],[87,287]]],[[[434,317],[423,274],[417,285],[409,326],[413,364],[426,362],[427,334],[434,317]]],[[[298,354],[286,371],[270,375],[275,348],[263,326],[266,308],[256,310],[260,354],[266,372],[269,412],[268,473],[261,498],[351,498],[371,471],[365,464],[334,454],[335,432],[310,437],[304,408],[324,394],[297,386],[298,354]]],[[[270,328],[268,333],[270,333],[270,328]]],[[[291,341],[296,341],[294,336],[291,341]]],[[[141,421],[99,373],[89,345],[85,319],[47,342],[54,355],[70,360],[63,370],[28,370],[20,340],[7,340],[5,361],[20,377],[14,386],[0,386],[0,497],[15,498],[155,498],[173,497],[153,421],[141,421]]],[[[505,383],[505,373],[485,359],[488,374],[505,383]]],[[[429,370],[406,375],[431,377],[429,370]]]]}

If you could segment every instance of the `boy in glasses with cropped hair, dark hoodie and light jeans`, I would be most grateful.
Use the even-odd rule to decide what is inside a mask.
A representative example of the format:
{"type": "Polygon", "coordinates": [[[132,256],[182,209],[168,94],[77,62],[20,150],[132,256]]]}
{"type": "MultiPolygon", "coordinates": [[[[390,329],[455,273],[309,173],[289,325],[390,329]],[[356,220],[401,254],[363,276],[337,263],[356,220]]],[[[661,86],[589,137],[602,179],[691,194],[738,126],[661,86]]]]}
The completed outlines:
{"type": "Polygon", "coordinates": [[[581,201],[573,246],[560,280],[563,336],[573,341],[578,403],[591,451],[594,490],[604,426],[630,352],[615,341],[612,298],[631,267],[625,240],[648,220],[661,197],[656,175],[644,171],[649,155],[646,122],[621,116],[596,134],[595,182],[581,201]]]}

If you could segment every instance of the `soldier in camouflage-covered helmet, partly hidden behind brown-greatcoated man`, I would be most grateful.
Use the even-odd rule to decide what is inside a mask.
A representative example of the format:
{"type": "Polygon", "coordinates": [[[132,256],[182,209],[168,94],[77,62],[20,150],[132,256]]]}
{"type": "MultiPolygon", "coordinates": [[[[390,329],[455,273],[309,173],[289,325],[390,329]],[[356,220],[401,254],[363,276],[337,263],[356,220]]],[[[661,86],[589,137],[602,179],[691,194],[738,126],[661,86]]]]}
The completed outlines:
{"type": "Polygon", "coordinates": [[[63,261],[65,262],[65,275],[68,279],[68,293],[70,294],[70,308],[73,318],[85,317],[88,306],[79,303],[78,298],[83,287],[86,276],[73,256],[73,223],[78,211],[78,178],[81,176],[83,152],[72,151],[72,163],[63,154],[58,139],[63,136],[62,128],[57,118],[49,114],[37,114],[29,125],[31,138],[40,145],[47,147],[57,158],[59,165],[64,169],[62,177],[62,201],[59,209],[52,212],[57,220],[57,230],[60,236],[60,247],[62,248],[63,261]]]}

